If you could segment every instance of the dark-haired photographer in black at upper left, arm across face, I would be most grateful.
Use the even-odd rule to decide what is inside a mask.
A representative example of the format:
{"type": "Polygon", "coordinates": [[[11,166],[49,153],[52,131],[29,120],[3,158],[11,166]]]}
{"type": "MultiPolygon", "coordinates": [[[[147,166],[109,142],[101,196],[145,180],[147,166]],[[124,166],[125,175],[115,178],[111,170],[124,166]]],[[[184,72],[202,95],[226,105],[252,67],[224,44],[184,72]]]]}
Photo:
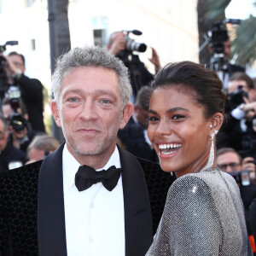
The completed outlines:
{"type": "MultiPolygon", "coordinates": [[[[3,54],[1,54],[3,56],[3,54]]],[[[26,71],[25,58],[16,52],[3,56],[7,61],[5,71],[10,86],[20,90],[22,101],[26,105],[29,122],[35,131],[44,130],[43,85],[38,79],[30,79],[24,74],[26,71]]]]}

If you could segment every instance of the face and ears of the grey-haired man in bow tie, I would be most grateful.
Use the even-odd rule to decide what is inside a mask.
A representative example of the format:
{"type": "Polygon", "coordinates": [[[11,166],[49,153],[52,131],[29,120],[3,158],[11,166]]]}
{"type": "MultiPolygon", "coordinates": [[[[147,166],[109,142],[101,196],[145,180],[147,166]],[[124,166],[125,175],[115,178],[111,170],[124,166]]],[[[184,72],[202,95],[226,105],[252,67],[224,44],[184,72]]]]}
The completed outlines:
{"type": "Polygon", "coordinates": [[[59,107],[52,102],[52,112],[77,160],[95,155],[101,160],[113,153],[117,132],[131,116],[127,106],[122,111],[116,73],[104,67],[77,67],[64,77],[59,107]]]}

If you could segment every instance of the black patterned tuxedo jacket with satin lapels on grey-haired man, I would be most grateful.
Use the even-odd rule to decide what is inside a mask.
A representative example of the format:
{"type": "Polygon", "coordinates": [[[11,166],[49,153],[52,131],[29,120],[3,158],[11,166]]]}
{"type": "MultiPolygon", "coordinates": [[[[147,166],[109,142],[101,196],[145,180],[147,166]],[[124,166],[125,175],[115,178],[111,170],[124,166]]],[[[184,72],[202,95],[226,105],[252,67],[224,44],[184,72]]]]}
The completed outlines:
{"type": "MultiPolygon", "coordinates": [[[[62,149],[63,145],[44,161],[0,175],[0,255],[67,255],[62,149]]],[[[121,148],[119,154],[125,255],[143,256],[153,241],[173,177],[121,148]]]]}

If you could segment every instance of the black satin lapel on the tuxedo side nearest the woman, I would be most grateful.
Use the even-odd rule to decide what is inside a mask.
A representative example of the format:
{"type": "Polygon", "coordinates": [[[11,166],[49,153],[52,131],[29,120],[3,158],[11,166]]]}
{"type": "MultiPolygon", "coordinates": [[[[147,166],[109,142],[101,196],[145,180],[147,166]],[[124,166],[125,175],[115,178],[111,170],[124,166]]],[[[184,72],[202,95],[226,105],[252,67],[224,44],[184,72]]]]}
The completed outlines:
{"type": "Polygon", "coordinates": [[[137,159],[121,148],[119,155],[125,205],[125,256],[144,256],[153,241],[148,188],[137,159]]]}

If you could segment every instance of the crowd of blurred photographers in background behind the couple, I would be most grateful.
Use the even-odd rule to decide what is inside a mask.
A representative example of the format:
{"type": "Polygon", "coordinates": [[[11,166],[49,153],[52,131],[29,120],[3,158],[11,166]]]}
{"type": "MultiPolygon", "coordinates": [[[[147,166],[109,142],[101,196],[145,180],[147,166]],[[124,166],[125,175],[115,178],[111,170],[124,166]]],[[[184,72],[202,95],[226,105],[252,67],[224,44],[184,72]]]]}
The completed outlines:
{"type": "MultiPolygon", "coordinates": [[[[113,33],[108,49],[117,56],[125,50],[123,32],[113,33]]],[[[230,57],[230,39],[226,42],[224,53],[227,58],[230,57]]],[[[60,145],[55,137],[45,133],[43,85],[38,79],[26,77],[23,55],[13,52],[4,57],[7,61],[8,83],[11,84],[9,95],[15,93],[18,87],[20,96],[11,97],[7,94],[1,99],[0,172],[43,160],[60,145]]],[[[150,61],[157,72],[160,60],[155,49],[150,61]]],[[[229,172],[236,178],[241,189],[247,231],[256,253],[249,214],[249,207],[256,197],[256,84],[255,79],[250,78],[242,67],[229,65],[227,72],[228,81],[224,88],[226,115],[223,129],[217,136],[217,164],[223,172],[229,172]]],[[[147,135],[151,96],[149,84],[153,76],[139,61],[137,78],[140,83],[138,87],[138,84],[133,84],[138,89],[132,99],[134,110],[125,129],[119,130],[118,143],[137,157],[157,163],[158,157],[147,135]]]]}

